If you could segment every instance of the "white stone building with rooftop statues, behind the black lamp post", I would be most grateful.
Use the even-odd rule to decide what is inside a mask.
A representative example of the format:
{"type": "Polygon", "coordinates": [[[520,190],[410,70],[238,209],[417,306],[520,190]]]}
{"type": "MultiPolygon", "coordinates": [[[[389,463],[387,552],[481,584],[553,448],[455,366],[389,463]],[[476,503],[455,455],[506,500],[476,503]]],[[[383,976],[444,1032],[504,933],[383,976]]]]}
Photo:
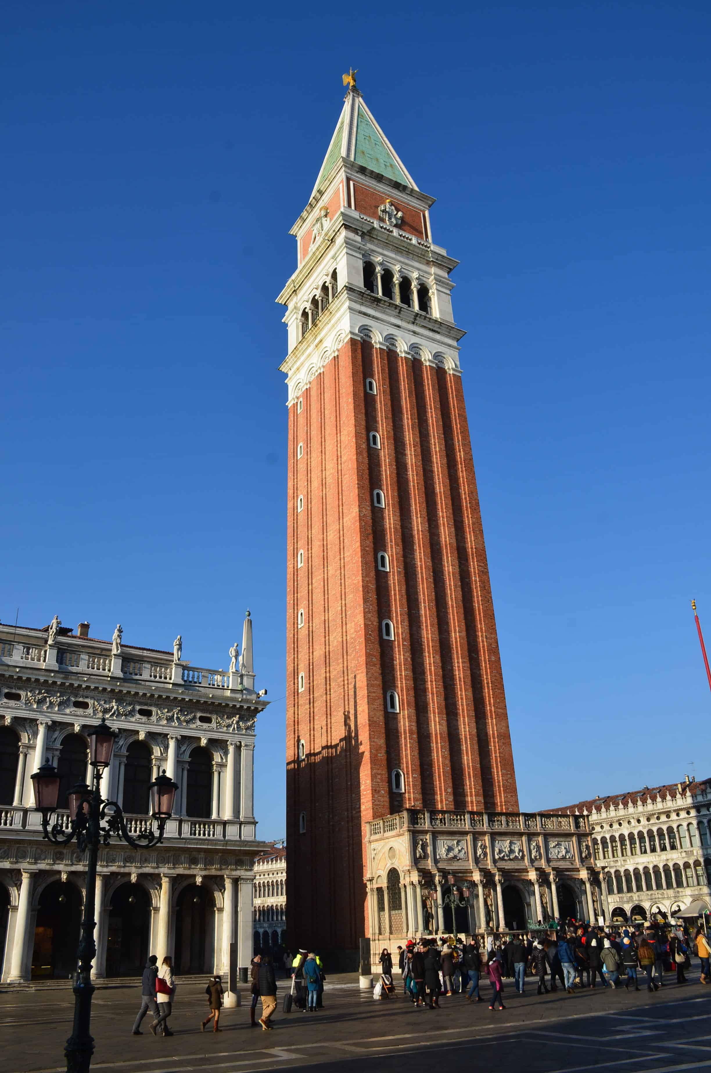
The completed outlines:
{"type": "MultiPolygon", "coordinates": [[[[230,943],[249,965],[253,862],[265,844],[253,815],[255,691],[251,619],[229,671],[192,666],[173,651],[44,629],[0,626],[0,965],[3,981],[68,976],[76,965],[84,855],[42,837],[30,776],[49,758],[68,789],[90,782],[86,731],[118,731],[102,795],[140,831],[148,784],[165,769],[179,787],[160,846],[112,839],[99,852],[95,975],[134,975],[149,953],[173,955],[178,975],[221,971],[230,943]]],[[[69,827],[67,811],[59,813],[69,827]]]]}

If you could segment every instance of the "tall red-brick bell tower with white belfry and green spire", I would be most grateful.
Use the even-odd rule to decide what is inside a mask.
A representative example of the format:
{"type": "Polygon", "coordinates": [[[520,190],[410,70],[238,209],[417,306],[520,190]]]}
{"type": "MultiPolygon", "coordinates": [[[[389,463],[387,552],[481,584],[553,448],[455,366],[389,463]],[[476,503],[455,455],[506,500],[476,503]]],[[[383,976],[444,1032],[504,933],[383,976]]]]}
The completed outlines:
{"type": "Polygon", "coordinates": [[[278,298],[290,941],[344,955],[368,934],[366,821],[518,809],[452,314],[458,262],[433,240],[434,199],[348,83],[278,298]]]}

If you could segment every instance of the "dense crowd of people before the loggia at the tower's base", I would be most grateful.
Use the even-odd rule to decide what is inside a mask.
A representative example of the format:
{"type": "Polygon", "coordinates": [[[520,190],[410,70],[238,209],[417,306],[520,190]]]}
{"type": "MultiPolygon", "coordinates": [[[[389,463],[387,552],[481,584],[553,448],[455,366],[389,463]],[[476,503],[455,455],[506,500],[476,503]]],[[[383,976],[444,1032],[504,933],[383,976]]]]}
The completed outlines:
{"type": "MultiPolygon", "coordinates": [[[[473,937],[460,943],[452,936],[439,939],[408,940],[397,946],[396,955],[406,998],[421,1009],[441,1009],[440,998],[461,994],[470,1002],[482,1002],[480,985],[491,986],[490,1010],[504,1010],[504,981],[513,981],[513,994],[523,995],[526,979],[536,984],[537,995],[555,991],[558,985],[568,995],[576,989],[624,987],[640,990],[640,981],[649,991],[665,985],[665,973],[674,972],[678,984],[685,984],[684,969],[691,953],[701,962],[702,984],[711,983],[711,944],[701,929],[691,937],[682,926],[672,928],[644,925],[639,928],[605,929],[578,924],[554,935],[534,932],[496,938],[485,944],[473,937]]],[[[396,997],[393,958],[388,950],[380,954],[380,979],[373,997],[396,997]]],[[[667,975],[667,982],[669,976],[667,975]]]]}

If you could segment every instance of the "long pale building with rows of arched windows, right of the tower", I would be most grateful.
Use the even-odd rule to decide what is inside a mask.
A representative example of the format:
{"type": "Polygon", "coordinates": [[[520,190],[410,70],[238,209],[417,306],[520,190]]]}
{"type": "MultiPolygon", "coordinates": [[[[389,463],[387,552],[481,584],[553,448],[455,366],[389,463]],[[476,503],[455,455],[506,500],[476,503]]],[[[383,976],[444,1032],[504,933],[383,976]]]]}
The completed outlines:
{"type": "Polygon", "coordinates": [[[615,923],[711,911],[711,780],[644,787],[563,811],[585,817],[615,923]]]}

